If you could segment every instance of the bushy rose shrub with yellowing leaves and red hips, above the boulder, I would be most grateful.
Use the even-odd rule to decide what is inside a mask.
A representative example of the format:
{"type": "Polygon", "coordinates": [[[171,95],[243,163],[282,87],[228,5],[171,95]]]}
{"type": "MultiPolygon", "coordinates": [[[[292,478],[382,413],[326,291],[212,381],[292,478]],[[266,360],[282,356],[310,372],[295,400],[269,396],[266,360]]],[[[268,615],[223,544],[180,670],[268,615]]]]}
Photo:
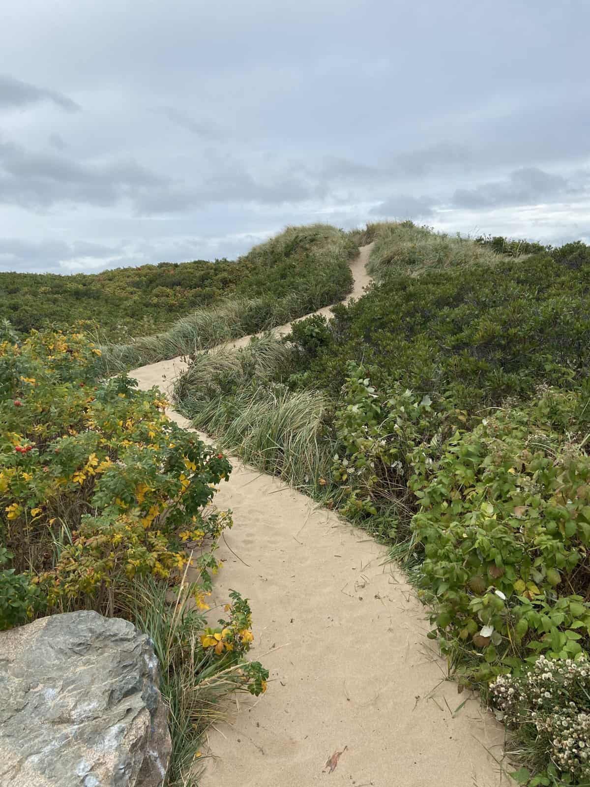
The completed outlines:
{"type": "Polygon", "coordinates": [[[54,332],[0,346],[0,534],[9,570],[32,575],[50,609],[112,615],[131,578],[178,575],[183,533],[227,527],[202,512],[230,465],[168,420],[157,391],[98,382],[97,353],[54,332]]]}

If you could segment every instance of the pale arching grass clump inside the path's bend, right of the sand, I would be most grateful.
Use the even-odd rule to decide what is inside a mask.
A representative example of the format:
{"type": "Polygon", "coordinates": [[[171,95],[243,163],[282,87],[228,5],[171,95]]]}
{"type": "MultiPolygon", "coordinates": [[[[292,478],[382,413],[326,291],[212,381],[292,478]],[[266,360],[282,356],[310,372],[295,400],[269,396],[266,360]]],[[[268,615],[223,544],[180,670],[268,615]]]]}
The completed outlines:
{"type": "Polygon", "coordinates": [[[284,376],[279,370],[289,369],[292,354],[268,334],[243,349],[199,353],[177,380],[175,397],[195,426],[215,434],[229,453],[307,489],[330,472],[329,407],[320,393],[272,382],[284,376]]]}

